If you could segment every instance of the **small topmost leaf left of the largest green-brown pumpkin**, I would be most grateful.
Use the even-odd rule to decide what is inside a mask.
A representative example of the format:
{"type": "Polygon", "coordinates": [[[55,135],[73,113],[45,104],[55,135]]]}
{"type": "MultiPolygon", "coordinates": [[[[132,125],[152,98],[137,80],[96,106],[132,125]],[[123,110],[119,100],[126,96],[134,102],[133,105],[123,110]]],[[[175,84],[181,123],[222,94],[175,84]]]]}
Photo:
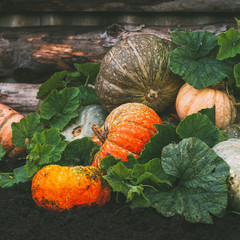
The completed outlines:
{"type": "Polygon", "coordinates": [[[80,73],[80,76],[84,76],[84,84],[85,86],[89,84],[94,84],[97,74],[100,69],[100,63],[83,63],[83,64],[74,64],[75,68],[78,70],[80,73]]]}

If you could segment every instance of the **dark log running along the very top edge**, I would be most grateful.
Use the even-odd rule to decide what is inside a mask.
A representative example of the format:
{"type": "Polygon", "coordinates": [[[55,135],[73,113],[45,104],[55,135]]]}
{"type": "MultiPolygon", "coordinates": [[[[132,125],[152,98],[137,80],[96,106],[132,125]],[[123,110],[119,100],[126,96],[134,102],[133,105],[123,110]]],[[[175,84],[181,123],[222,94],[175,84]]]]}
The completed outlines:
{"type": "Polygon", "coordinates": [[[239,0],[1,0],[0,11],[238,12],[239,0]]]}

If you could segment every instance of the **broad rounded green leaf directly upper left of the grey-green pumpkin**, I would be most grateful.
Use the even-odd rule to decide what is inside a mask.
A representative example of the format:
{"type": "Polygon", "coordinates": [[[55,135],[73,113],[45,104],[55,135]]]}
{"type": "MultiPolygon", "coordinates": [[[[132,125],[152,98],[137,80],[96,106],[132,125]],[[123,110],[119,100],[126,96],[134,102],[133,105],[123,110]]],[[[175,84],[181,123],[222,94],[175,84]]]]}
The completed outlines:
{"type": "Polygon", "coordinates": [[[78,94],[77,88],[64,88],[60,92],[52,90],[40,105],[41,118],[48,120],[51,127],[63,130],[71,119],[78,116],[78,94]]]}

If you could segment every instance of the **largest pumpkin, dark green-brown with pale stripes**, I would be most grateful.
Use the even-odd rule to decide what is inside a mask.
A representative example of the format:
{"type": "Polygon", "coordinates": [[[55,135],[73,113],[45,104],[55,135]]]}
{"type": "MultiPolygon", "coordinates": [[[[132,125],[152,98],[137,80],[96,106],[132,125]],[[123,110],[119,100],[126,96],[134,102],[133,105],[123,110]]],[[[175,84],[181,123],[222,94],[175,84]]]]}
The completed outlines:
{"type": "Polygon", "coordinates": [[[139,102],[157,113],[174,103],[182,85],[171,72],[173,42],[151,34],[120,41],[104,56],[95,82],[100,103],[110,112],[124,103],[139,102]]]}

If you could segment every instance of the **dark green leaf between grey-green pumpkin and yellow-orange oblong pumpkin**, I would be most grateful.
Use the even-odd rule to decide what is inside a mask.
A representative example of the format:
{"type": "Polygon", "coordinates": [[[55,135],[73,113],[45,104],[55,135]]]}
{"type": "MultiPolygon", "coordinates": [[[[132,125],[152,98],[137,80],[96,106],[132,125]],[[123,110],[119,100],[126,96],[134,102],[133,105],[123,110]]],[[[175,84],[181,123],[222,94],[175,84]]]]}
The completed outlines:
{"type": "MultiPolygon", "coordinates": [[[[99,146],[90,137],[76,139],[67,144],[63,153],[65,165],[90,165],[92,161],[91,152],[99,146]]],[[[95,151],[95,150],[94,150],[95,151]]]]}

